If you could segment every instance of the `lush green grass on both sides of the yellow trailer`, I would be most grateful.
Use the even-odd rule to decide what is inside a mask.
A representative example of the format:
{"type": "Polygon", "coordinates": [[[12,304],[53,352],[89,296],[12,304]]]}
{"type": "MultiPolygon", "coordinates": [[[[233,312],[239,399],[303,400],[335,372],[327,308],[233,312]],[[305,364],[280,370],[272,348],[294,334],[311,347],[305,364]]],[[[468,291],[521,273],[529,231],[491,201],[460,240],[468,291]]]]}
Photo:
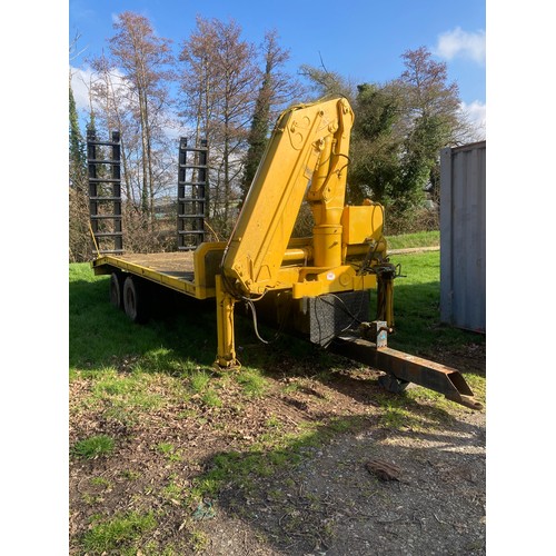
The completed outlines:
{"type": "MultiPolygon", "coordinates": [[[[391,248],[438,245],[439,232],[389,237],[388,242],[391,248]]],[[[423,355],[443,347],[485,342],[484,335],[440,324],[439,257],[439,251],[390,256],[403,274],[395,280],[396,331],[388,339],[390,347],[423,355]]],[[[214,311],[195,310],[192,320],[191,312],[185,311],[135,325],[108,302],[107,276],[95,277],[88,264],[72,264],[69,271],[71,380],[97,378],[92,397],[110,399],[115,414],[125,406],[147,410],[163,403],[158,394],[149,393],[146,375],[186,378],[183,384],[175,383],[176,398],[185,399],[192,390],[205,398],[206,405],[218,406],[214,386],[224,384],[225,375],[215,376],[212,369],[217,351],[214,311]]],[[[371,307],[375,300],[373,291],[371,307]]],[[[250,345],[241,353],[245,367],[237,376],[248,397],[265,395],[268,385],[262,369],[279,365],[285,350],[300,364],[319,358],[322,374],[334,366],[328,353],[305,341],[287,338],[270,349],[260,345],[247,319],[236,319],[236,332],[238,342],[250,345]]]]}

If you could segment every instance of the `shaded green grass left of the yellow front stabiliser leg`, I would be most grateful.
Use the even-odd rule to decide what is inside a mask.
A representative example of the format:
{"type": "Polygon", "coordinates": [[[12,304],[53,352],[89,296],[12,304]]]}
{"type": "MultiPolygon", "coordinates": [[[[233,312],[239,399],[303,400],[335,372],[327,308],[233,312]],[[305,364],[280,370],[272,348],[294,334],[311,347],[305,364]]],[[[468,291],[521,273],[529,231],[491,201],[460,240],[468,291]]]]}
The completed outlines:
{"type": "Polygon", "coordinates": [[[108,276],[96,277],[88,264],[70,265],[69,364],[71,376],[102,367],[186,376],[210,368],[216,355],[214,318],[196,311],[152,319],[146,326],[130,322],[109,304],[108,276]]]}

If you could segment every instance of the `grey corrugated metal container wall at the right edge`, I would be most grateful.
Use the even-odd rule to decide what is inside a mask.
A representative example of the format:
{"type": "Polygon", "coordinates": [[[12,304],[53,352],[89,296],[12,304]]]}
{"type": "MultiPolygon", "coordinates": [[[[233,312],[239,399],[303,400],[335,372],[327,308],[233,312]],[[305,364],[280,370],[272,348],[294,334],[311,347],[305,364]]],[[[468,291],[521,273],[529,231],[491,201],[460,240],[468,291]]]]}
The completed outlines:
{"type": "Polygon", "coordinates": [[[486,331],[486,141],[440,152],[440,319],[486,331]]]}

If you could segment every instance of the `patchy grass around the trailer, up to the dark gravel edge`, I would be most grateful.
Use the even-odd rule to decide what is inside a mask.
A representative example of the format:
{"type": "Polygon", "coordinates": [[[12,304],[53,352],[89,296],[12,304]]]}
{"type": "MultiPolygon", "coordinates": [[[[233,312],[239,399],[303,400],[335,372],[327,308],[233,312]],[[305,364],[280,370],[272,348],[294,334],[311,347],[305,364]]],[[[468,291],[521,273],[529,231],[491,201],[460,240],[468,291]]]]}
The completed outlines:
{"type": "MultiPolygon", "coordinates": [[[[435,245],[429,236],[397,241],[435,245]]],[[[484,347],[484,336],[439,324],[437,251],[393,262],[404,277],[396,279],[389,346],[431,359],[484,347]]],[[[368,423],[369,411],[380,426],[418,430],[460,410],[424,388],[384,393],[360,366],[347,368],[299,339],[265,346],[247,318],[236,329],[242,368],[215,373],[212,302],[173,305],[140,326],[109,304],[108,277],[95,277],[88,264],[70,265],[69,275],[72,554],[202,552],[198,518],[225,486],[249,489],[308,447],[368,423]],[[299,409],[294,423],[292,407],[306,418],[299,409]],[[183,544],[172,523],[181,524],[183,544]]],[[[484,401],[484,374],[466,380],[484,401]]]]}

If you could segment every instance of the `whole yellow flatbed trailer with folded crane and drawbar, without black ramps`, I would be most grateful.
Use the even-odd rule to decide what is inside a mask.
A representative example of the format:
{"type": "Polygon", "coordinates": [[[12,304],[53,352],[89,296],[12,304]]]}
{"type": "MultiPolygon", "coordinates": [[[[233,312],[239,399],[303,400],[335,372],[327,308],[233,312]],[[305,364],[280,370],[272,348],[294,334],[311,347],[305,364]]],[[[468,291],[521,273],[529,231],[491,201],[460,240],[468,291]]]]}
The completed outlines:
{"type": "MultiPolygon", "coordinates": [[[[220,368],[239,367],[235,307],[281,329],[385,373],[380,383],[401,391],[415,383],[480,408],[453,368],[387,347],[394,327],[393,284],[383,236],[384,208],[370,200],[345,205],[354,113],[336,98],[297,105],[278,118],[228,241],[195,251],[102,255],[96,275],[110,275],[110,300],[133,321],[148,318],[157,288],[215,299],[220,368]],[[302,202],[315,226],[292,238],[302,202]],[[370,290],[377,290],[369,321],[370,290]]],[[[257,332],[258,334],[258,332],[257,332]]]]}

